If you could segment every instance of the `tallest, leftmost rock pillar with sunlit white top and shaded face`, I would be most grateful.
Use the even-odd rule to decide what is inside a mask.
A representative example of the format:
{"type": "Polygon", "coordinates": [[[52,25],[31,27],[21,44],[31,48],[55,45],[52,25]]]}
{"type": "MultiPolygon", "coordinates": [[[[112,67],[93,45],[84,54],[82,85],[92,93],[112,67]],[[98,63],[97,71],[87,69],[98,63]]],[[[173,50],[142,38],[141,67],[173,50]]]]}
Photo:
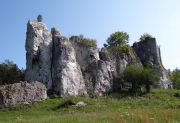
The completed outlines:
{"type": "Polygon", "coordinates": [[[51,89],[52,36],[42,22],[28,22],[26,51],[25,79],[40,81],[51,89]]]}

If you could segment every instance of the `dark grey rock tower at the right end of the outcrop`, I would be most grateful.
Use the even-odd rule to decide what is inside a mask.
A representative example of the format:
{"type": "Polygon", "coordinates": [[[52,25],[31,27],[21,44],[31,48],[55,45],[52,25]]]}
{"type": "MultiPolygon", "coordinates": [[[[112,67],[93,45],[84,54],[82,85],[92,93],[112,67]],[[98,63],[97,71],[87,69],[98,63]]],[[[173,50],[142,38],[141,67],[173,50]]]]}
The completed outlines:
{"type": "Polygon", "coordinates": [[[150,66],[158,72],[160,81],[155,82],[155,87],[171,88],[172,82],[169,79],[167,70],[161,60],[160,47],[157,46],[155,38],[148,38],[144,41],[133,44],[133,48],[144,66],[150,66]]]}

